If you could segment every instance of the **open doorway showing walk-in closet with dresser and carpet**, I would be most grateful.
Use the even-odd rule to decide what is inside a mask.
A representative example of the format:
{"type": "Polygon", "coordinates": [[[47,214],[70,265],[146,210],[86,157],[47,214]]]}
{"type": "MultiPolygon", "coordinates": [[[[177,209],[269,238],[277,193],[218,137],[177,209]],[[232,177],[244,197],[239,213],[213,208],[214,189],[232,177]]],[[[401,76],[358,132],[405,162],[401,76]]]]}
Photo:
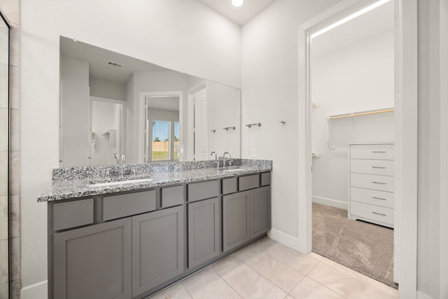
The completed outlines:
{"type": "Polygon", "coordinates": [[[309,70],[312,250],[396,288],[393,32],[393,1],[341,15],[309,70]]]}

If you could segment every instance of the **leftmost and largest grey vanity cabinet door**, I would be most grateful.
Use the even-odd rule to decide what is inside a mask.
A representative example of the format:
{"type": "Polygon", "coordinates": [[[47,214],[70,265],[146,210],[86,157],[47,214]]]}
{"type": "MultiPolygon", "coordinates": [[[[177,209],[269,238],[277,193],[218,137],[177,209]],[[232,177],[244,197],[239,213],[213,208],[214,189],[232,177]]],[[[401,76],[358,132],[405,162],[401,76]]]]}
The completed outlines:
{"type": "Polygon", "coordinates": [[[131,298],[131,219],[55,232],[55,298],[131,298]]]}

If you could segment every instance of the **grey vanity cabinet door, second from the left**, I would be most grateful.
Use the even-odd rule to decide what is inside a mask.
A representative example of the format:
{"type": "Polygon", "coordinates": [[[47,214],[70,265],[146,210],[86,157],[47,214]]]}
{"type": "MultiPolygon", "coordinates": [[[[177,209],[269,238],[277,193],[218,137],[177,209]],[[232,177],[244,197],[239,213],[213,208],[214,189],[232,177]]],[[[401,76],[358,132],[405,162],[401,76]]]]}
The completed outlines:
{"type": "Polygon", "coordinates": [[[132,217],[132,294],[183,273],[183,206],[132,217]]]}

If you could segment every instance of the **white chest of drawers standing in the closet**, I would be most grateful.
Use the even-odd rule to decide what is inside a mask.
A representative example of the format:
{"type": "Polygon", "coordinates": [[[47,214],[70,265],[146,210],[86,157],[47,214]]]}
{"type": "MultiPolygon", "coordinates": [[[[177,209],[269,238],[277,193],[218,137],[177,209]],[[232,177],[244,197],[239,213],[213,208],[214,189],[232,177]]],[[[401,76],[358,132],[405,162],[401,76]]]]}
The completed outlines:
{"type": "Polygon", "coordinates": [[[393,228],[394,145],[349,146],[349,218],[393,228]]]}

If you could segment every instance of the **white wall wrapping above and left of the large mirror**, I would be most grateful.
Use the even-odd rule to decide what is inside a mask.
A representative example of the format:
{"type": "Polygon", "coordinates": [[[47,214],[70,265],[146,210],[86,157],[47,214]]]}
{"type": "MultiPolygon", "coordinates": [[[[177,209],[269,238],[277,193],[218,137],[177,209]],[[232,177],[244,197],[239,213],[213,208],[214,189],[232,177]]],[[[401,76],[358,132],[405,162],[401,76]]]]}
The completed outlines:
{"type": "Polygon", "coordinates": [[[59,36],[239,87],[241,29],[196,0],[20,2],[22,287],[47,279],[46,204],[59,153],[59,36]],[[119,21],[118,21],[119,20],[119,21]]]}

